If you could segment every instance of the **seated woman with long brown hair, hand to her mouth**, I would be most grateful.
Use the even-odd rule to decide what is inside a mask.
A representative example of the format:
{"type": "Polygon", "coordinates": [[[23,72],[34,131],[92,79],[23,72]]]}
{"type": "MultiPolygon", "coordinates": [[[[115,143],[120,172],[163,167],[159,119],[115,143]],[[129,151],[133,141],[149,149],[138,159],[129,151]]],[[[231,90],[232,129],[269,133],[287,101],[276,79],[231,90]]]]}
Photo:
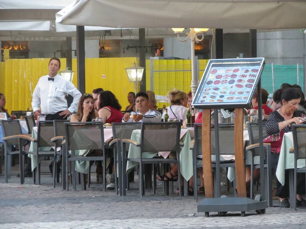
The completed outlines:
{"type": "Polygon", "coordinates": [[[71,116],[70,122],[91,122],[91,120],[98,117],[98,113],[93,109],[93,107],[93,96],[85,93],[80,98],[78,112],[71,116]]]}

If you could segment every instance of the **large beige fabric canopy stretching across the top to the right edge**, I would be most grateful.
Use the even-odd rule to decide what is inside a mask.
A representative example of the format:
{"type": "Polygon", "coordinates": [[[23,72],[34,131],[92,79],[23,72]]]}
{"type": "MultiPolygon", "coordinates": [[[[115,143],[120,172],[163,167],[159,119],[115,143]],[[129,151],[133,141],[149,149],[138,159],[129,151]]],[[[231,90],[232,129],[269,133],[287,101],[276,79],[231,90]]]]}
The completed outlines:
{"type": "Polygon", "coordinates": [[[286,29],[306,26],[306,0],[81,0],[62,24],[108,27],[286,29]]]}

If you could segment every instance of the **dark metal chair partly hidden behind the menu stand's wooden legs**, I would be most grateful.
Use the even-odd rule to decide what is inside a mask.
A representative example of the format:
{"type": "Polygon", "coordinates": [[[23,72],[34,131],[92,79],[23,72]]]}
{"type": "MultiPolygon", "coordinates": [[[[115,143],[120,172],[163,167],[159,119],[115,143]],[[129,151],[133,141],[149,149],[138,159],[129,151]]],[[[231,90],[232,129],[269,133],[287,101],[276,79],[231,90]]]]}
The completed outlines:
{"type": "MultiPolygon", "coordinates": [[[[195,201],[198,201],[197,194],[197,168],[202,168],[202,163],[197,163],[198,160],[202,160],[202,124],[194,124],[194,137],[195,140],[191,141],[190,149],[193,150],[193,190],[195,201]]],[[[234,155],[234,125],[233,124],[219,124],[219,150],[216,147],[215,141],[215,128],[211,126],[211,154],[216,155],[216,151],[219,151],[219,155],[234,155]]],[[[215,186],[215,196],[220,195],[220,177],[219,167],[235,167],[234,160],[212,161],[213,177],[215,186]],[[217,168],[217,169],[216,169],[217,168]]]]}

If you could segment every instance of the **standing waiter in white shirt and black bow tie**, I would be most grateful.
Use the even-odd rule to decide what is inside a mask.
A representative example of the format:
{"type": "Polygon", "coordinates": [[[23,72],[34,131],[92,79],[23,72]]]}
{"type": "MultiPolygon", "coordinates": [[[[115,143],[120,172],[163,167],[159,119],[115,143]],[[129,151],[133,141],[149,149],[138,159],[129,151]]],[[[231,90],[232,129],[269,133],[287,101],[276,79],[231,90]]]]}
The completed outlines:
{"type": "Polygon", "coordinates": [[[38,80],[33,93],[32,107],[35,115],[44,115],[49,121],[67,119],[77,110],[82,96],[72,82],[63,79],[58,74],[60,68],[60,60],[55,57],[51,58],[48,66],[49,74],[38,80]],[[73,97],[70,107],[67,106],[66,95],[73,97]]]}

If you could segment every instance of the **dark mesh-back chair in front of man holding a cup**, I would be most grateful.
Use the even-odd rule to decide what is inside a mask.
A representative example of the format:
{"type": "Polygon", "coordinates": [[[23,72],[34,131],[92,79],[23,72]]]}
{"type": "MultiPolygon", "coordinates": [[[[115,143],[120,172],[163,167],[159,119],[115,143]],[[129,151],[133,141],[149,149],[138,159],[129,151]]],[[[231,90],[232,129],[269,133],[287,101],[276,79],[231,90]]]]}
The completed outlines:
{"type": "MultiPolygon", "coordinates": [[[[170,123],[141,123],[141,140],[140,142],[131,139],[122,139],[122,152],[126,150],[126,144],[132,144],[140,148],[139,158],[126,158],[125,154],[122,154],[122,170],[125,171],[127,161],[135,161],[139,163],[139,191],[140,196],[144,195],[143,188],[143,165],[144,164],[165,164],[165,163],[177,163],[180,168],[180,132],[181,122],[170,123]],[[176,153],[176,159],[154,157],[154,158],[142,158],[144,152],[160,152],[171,151],[176,153]]],[[[181,172],[178,169],[179,184],[181,184],[181,172]]],[[[126,176],[122,176],[123,184],[125,184],[126,176]]],[[[182,193],[181,185],[179,186],[180,196],[182,193]]],[[[123,188],[123,195],[125,195],[125,189],[123,188]]]]}

